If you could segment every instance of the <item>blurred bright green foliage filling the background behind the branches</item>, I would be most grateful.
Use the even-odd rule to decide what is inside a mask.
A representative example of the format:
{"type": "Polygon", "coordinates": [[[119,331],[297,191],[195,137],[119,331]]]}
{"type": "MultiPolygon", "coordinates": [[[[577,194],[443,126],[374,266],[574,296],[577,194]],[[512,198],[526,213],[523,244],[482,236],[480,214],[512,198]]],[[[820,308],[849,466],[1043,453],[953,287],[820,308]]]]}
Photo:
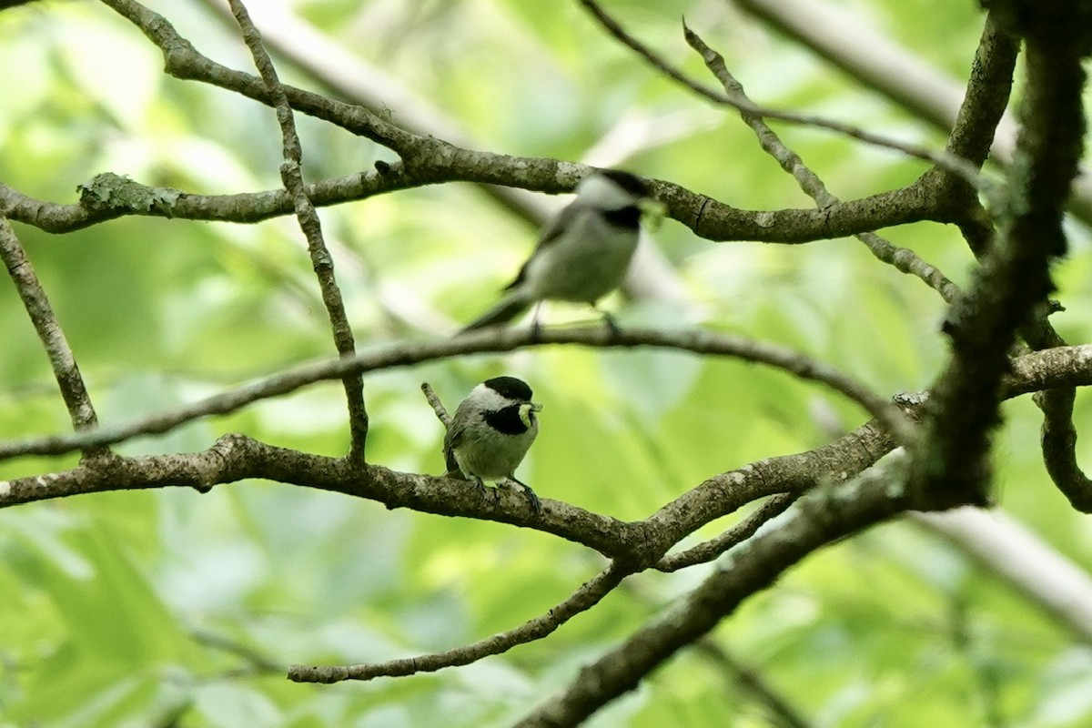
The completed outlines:
{"type": "MultiPolygon", "coordinates": [[[[965,75],[974,3],[845,4],[924,59],[965,75]]],[[[310,0],[297,10],[332,40],[401,79],[480,148],[579,159],[619,122],[677,126],[624,164],[746,208],[809,202],[731,114],[679,91],[605,38],[572,2],[310,0]]],[[[161,1],[203,52],[251,68],[200,3],[161,1]]],[[[639,37],[707,80],[681,37],[685,13],[756,100],[827,114],[921,143],[942,140],[729,5],[607,3],[639,37]]],[[[280,186],[269,109],[162,74],[134,27],[97,3],[0,13],[0,179],[55,202],[99,172],[188,192],[280,186]]],[[[292,83],[319,87],[280,61],[292,83]]],[[[711,81],[711,80],[709,80],[711,81]]],[[[395,120],[397,115],[395,111],[395,120]]],[[[389,153],[299,120],[314,180],[389,153]]],[[[918,163],[826,132],[781,130],[843,198],[914,178],[918,163]]],[[[385,155],[385,156],[384,156],[385,155]]],[[[534,230],[467,186],[321,211],[357,341],[442,334],[484,309],[534,230]]],[[[88,382],[99,416],[127,421],[332,354],[294,220],[254,226],[130,218],[66,236],[16,229],[88,382]]],[[[890,237],[965,281],[953,229],[890,237]]],[[[923,389],[945,357],[942,301],[856,241],[712,244],[667,223],[657,242],[707,324],[796,347],[894,393],[923,389]]],[[[1056,323],[1089,341],[1089,239],[1057,271],[1056,323]]],[[[615,303],[616,309],[620,301],[615,303]]],[[[548,313],[547,315],[553,315],[548,313]]],[[[669,313],[621,308],[620,321],[669,313]]],[[[63,431],[67,416],[12,286],[0,284],[0,437],[63,431]]],[[[816,386],[732,361],[656,351],[543,349],[476,356],[366,379],[369,454],[439,473],[441,427],[418,385],[453,406],[501,372],[545,403],[522,475],[545,498],[641,518],[702,479],[807,450],[865,416],[816,386]]],[[[1049,486],[1029,402],[1006,408],[999,500],[1056,548],[1092,563],[1087,523],[1049,486]]],[[[324,454],[346,449],[344,404],[321,384],[126,453],[187,452],[245,431],[324,454]]],[[[1078,422],[1089,405],[1078,401],[1078,422]]],[[[1087,443],[1081,447],[1092,462],[1087,443]]],[[[0,477],[73,458],[0,463],[0,477]]],[[[707,526],[711,536],[728,523],[707,526]]],[[[571,681],[580,665],[684,594],[707,568],[627,581],[548,641],[431,676],[308,687],[290,663],[380,661],[510,629],[568,596],[603,560],[509,526],[389,512],[268,482],[84,496],[0,512],[0,726],[492,726],[571,681]]],[[[1078,726],[1092,721],[1092,651],[952,547],[891,524],[831,548],[758,595],[713,635],[815,725],[1078,726]]],[[[763,726],[767,714],[714,661],[688,652],[595,726],[763,726]]]]}

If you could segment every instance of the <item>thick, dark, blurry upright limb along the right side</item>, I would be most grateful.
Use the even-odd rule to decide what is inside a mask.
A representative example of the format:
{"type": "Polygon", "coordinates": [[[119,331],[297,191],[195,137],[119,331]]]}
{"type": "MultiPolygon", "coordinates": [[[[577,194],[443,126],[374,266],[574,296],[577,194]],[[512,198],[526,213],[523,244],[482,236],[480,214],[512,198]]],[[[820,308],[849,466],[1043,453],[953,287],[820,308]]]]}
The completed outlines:
{"type": "Polygon", "coordinates": [[[1087,29],[1077,19],[1024,10],[1028,85],[1005,223],[949,313],[952,356],[933,387],[923,450],[914,462],[915,490],[940,489],[953,505],[987,501],[990,433],[999,419],[1009,348],[1053,290],[1049,263],[1066,252],[1061,217],[1083,144],[1084,72],[1070,37],[1087,29]]]}

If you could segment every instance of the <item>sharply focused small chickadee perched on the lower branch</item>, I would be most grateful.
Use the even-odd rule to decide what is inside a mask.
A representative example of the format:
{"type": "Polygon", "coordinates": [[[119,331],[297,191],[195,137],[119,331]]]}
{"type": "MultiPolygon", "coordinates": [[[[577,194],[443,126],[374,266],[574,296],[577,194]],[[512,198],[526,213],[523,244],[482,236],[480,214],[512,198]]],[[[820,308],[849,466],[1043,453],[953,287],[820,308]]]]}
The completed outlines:
{"type": "Polygon", "coordinates": [[[483,494],[483,480],[514,480],[523,486],[531,509],[542,511],[535,491],[514,475],[538,434],[535,413],[541,410],[542,405],[531,402],[531,387],[514,377],[495,377],[475,386],[455,409],[443,438],[444,477],[473,480],[483,494]]]}

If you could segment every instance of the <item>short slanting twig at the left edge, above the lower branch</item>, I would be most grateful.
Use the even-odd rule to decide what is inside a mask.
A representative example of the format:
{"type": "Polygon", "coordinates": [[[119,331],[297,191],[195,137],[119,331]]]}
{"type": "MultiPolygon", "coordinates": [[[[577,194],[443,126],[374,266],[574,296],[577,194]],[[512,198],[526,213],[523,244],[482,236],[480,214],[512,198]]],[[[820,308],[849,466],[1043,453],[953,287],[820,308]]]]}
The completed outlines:
{"type": "MultiPolygon", "coordinates": [[[[41,345],[49,357],[57,386],[60,387],[61,398],[72,420],[72,429],[81,432],[95,428],[98,425],[98,416],[91,403],[91,395],[87,394],[72,347],[64,337],[61,324],[49,305],[49,297],[38,282],[26,251],[23,250],[8,218],[3,216],[0,216],[0,260],[8,267],[15,290],[23,299],[31,323],[38,332],[38,338],[41,339],[41,345]]],[[[102,445],[88,445],[83,449],[84,456],[100,455],[105,452],[106,449],[102,445]]]]}

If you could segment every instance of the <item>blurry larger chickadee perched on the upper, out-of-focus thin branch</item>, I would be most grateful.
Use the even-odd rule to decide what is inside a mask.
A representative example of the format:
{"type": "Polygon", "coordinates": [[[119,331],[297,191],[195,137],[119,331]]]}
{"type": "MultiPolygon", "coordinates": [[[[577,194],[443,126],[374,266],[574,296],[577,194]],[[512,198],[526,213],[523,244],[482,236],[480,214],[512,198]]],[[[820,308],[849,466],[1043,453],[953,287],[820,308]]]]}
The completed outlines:
{"type": "MultiPolygon", "coordinates": [[[[577,199],[543,232],[500,302],[463,331],[511,321],[546,299],[589,303],[617,288],[637,250],[649,186],[617,169],[596,170],[577,186],[577,199]]],[[[607,325],[616,329],[609,314],[607,325]]],[[[537,320],[535,322],[537,326],[537,320]]]]}

